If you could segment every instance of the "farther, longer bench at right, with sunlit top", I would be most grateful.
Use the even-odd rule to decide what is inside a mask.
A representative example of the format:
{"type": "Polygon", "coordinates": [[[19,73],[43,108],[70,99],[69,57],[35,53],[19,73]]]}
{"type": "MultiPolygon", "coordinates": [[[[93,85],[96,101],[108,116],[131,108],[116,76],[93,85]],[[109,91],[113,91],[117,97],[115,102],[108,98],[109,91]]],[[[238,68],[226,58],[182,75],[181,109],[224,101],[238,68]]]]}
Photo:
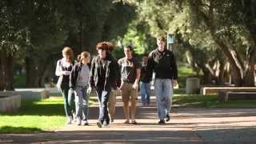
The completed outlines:
{"type": "Polygon", "coordinates": [[[230,90],[230,91],[256,91],[256,87],[201,87],[200,94],[218,94],[219,90],[230,90]]]}

